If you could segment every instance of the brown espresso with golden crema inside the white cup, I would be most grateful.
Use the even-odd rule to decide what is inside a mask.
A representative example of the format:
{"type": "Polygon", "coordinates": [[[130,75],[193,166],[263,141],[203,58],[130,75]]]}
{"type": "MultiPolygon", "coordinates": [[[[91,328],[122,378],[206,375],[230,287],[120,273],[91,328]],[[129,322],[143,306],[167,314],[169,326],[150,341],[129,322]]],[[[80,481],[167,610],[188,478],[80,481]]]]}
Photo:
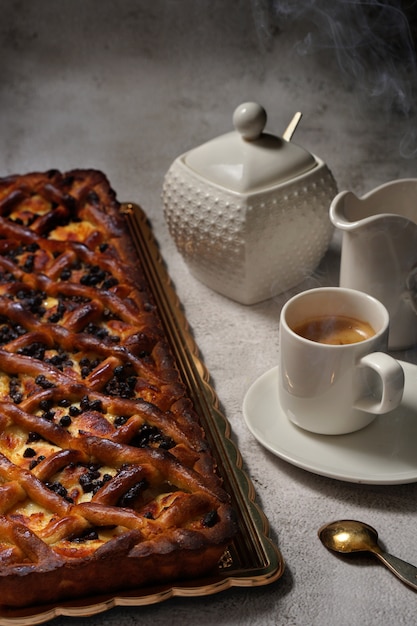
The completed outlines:
{"type": "Polygon", "coordinates": [[[309,318],[293,330],[297,335],[310,341],[339,346],[365,341],[375,335],[374,329],[368,322],[345,315],[309,318]]]}

